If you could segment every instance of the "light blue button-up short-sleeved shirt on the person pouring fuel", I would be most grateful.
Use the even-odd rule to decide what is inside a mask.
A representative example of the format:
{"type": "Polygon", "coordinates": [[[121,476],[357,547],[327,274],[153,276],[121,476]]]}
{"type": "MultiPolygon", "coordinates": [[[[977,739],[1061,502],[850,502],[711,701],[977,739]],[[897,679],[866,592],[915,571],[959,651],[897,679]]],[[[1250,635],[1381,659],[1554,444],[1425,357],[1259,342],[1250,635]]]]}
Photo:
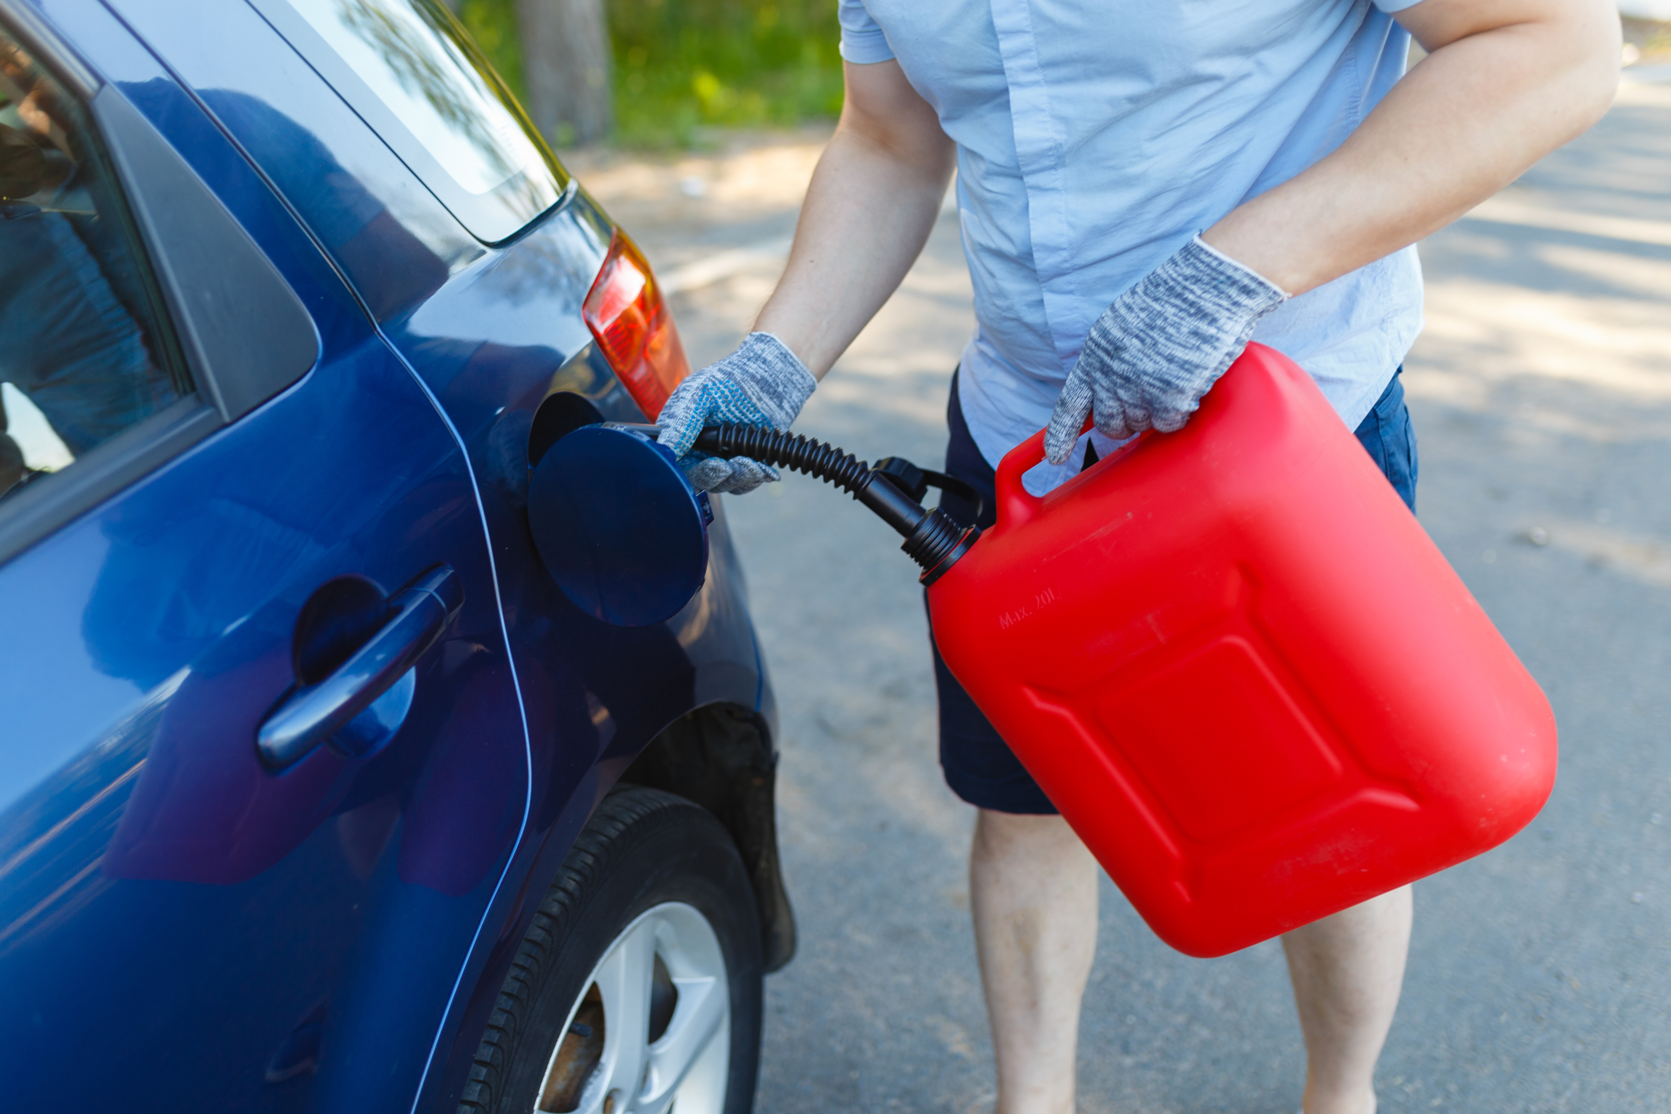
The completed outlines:
{"type": "MultiPolygon", "coordinates": [[[[1120,292],[1364,120],[1404,75],[1389,13],[1414,2],[841,0],[842,57],[897,58],[957,144],[978,321],[959,396],[989,463],[1044,426],[1120,292]]],[[[1355,428],[1420,327],[1407,247],[1283,302],[1253,339],[1355,428]]]]}

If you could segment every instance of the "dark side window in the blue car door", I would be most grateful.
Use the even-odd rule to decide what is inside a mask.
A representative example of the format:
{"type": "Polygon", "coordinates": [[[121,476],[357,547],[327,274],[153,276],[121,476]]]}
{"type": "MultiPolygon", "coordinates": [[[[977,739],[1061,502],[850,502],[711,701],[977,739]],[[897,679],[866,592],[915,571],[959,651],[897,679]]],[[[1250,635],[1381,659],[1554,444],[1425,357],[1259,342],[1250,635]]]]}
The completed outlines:
{"type": "Polygon", "coordinates": [[[80,102],[0,30],[0,501],[190,392],[80,102]]]}

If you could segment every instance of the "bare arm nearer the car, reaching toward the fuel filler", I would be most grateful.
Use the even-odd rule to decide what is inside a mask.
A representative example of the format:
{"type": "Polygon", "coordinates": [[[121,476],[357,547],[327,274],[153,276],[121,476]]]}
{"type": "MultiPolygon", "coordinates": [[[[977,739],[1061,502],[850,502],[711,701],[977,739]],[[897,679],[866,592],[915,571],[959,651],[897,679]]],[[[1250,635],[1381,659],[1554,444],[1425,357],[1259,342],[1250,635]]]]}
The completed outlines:
{"type": "Polygon", "coordinates": [[[846,63],[847,99],[754,327],[817,376],[906,277],[939,215],[954,145],[897,62],[846,63]]]}

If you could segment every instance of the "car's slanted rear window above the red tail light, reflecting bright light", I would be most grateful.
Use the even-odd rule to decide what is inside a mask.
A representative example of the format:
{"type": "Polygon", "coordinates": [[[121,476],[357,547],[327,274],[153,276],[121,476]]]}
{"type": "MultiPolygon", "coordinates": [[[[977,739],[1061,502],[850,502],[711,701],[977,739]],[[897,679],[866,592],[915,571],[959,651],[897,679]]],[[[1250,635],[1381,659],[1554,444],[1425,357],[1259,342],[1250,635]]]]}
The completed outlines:
{"type": "Polygon", "coordinates": [[[251,0],[485,242],[563,197],[568,175],[439,0],[251,0]]]}

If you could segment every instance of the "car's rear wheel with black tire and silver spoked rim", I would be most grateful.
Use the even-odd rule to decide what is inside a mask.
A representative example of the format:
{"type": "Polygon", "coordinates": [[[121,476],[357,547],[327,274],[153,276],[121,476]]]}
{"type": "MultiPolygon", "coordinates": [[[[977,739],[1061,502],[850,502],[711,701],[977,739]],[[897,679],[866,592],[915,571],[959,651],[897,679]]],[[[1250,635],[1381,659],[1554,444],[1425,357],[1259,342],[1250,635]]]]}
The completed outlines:
{"type": "Polygon", "coordinates": [[[747,1114],[760,927],[737,847],[658,790],[605,797],[505,979],[460,1114],[747,1114]]]}

